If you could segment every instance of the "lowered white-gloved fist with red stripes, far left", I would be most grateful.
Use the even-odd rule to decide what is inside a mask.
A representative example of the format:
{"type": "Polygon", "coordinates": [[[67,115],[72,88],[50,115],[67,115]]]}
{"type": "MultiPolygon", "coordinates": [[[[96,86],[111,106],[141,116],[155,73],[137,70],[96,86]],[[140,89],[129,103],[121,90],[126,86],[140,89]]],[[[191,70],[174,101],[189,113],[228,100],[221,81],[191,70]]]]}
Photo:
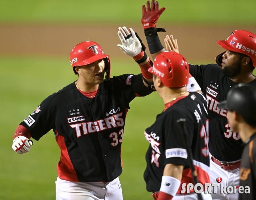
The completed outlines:
{"type": "Polygon", "coordinates": [[[19,154],[23,154],[23,153],[30,152],[30,147],[32,145],[33,145],[32,140],[29,140],[25,136],[18,136],[14,138],[12,142],[12,149],[19,154]]]}

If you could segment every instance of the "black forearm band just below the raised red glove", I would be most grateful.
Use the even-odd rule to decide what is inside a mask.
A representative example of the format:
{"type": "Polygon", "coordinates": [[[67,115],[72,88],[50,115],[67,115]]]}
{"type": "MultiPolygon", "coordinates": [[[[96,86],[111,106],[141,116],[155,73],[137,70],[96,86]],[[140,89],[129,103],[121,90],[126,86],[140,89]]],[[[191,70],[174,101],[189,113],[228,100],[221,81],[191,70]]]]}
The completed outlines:
{"type": "Polygon", "coordinates": [[[161,51],[163,49],[163,46],[160,42],[157,32],[158,30],[156,30],[156,28],[144,29],[150,54],[155,54],[158,51],[161,51]]]}

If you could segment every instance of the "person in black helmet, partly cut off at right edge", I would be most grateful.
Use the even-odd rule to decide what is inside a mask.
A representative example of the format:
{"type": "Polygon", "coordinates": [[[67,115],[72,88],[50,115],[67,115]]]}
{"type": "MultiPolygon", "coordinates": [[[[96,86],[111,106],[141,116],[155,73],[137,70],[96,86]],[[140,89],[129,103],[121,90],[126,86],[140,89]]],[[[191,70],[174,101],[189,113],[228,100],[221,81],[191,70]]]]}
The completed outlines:
{"type": "Polygon", "coordinates": [[[238,84],[220,102],[219,108],[228,109],[227,121],[239,132],[244,142],[242,153],[239,200],[256,199],[256,87],[238,84]]]}

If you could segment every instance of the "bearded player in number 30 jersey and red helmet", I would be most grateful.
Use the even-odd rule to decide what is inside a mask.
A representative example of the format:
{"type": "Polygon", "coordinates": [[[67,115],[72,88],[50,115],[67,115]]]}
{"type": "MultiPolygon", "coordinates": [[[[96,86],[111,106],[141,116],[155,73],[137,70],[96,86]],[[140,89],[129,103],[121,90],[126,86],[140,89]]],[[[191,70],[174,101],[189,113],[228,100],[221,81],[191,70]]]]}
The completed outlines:
{"type": "MultiPolygon", "coordinates": [[[[173,37],[166,36],[165,43],[167,50],[177,46],[173,37]]],[[[240,134],[227,121],[227,109],[218,105],[238,83],[256,86],[255,76],[252,74],[256,67],[256,35],[236,30],[227,40],[219,40],[217,43],[226,49],[217,56],[218,65],[190,64],[189,69],[208,100],[210,179],[211,183],[222,183],[217,187],[217,194],[212,192],[212,199],[236,200],[243,146],[240,134]],[[229,186],[237,189],[227,192],[224,187],[229,186]]]]}

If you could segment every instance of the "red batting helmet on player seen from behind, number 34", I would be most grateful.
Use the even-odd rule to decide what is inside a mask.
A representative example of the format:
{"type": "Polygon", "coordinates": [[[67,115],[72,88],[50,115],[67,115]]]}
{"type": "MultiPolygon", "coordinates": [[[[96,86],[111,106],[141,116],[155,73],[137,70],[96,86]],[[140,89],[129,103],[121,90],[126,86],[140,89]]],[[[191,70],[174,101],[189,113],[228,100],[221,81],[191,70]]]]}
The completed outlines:
{"type": "Polygon", "coordinates": [[[166,87],[183,87],[188,85],[189,65],[180,54],[165,51],[159,54],[154,66],[148,71],[157,75],[166,87]]]}

